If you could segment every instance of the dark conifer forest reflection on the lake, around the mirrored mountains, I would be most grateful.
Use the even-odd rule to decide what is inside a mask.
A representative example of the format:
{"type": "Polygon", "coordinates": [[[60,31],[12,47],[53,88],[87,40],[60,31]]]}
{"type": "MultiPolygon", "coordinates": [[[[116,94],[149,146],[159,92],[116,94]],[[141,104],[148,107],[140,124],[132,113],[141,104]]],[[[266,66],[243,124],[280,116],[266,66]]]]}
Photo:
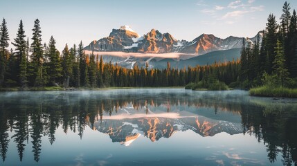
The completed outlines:
{"type": "MultiPolygon", "coordinates": [[[[245,95],[189,95],[187,93],[111,93],[109,95],[84,93],[21,93],[1,95],[0,153],[3,162],[10,142],[15,142],[19,160],[27,145],[33,145],[36,162],[42,152],[42,141],[55,142],[55,132],[78,133],[96,129],[96,124],[129,107],[143,115],[189,111],[200,115],[208,110],[215,118],[219,112],[241,117],[242,133],[255,136],[267,147],[271,163],[282,156],[283,165],[294,165],[297,160],[297,106],[294,103],[274,103],[246,98],[245,95]],[[29,139],[30,138],[30,139],[29,139]],[[48,140],[44,139],[48,138],[48,140]],[[32,141],[29,141],[32,140],[32,141]]],[[[168,136],[170,137],[170,136],[168,136]]],[[[152,140],[152,139],[151,139],[152,140]]]]}

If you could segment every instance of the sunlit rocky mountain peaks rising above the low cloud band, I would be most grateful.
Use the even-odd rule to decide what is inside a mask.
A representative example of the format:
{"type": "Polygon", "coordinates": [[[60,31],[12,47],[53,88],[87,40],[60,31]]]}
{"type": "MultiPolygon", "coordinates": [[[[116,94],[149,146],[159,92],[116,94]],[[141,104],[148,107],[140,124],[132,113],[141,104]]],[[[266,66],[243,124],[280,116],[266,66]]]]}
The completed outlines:
{"type": "MultiPolygon", "coordinates": [[[[262,40],[262,33],[260,40],[262,40]]],[[[257,39],[251,37],[248,41],[255,42],[257,39]]],[[[202,55],[215,50],[229,50],[241,48],[244,37],[227,37],[221,39],[215,35],[202,34],[191,42],[177,40],[170,33],[161,33],[152,29],[149,33],[140,36],[129,26],[121,26],[113,29],[109,37],[104,37],[98,41],[94,40],[85,50],[98,52],[125,52],[125,53],[186,53],[202,55]]]]}

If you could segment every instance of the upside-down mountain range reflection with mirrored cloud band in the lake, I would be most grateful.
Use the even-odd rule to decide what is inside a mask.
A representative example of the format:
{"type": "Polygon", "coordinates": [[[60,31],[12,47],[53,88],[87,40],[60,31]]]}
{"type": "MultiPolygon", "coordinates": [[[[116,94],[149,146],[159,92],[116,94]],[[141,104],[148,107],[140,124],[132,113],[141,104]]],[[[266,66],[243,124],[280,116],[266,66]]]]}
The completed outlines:
{"type": "MultiPolygon", "coordinates": [[[[119,109],[117,115],[107,116],[102,121],[93,124],[93,129],[106,133],[112,142],[120,142],[129,146],[140,136],[155,142],[161,138],[170,138],[178,131],[194,131],[200,136],[215,136],[217,133],[242,133],[242,124],[237,122],[237,116],[217,120],[207,115],[197,115],[190,111],[141,111],[125,107],[119,109]]],[[[145,109],[145,108],[144,108],[145,109]]],[[[203,113],[202,113],[203,114],[203,113]]]]}

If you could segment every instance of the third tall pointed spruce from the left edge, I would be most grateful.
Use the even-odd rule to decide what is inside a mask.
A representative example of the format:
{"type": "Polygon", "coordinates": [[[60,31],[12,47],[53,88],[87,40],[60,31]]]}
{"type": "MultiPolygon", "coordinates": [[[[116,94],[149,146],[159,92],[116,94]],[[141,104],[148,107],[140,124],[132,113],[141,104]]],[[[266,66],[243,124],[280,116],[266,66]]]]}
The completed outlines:
{"type": "Polygon", "coordinates": [[[40,21],[36,19],[34,21],[33,30],[33,43],[31,44],[31,59],[33,62],[33,82],[35,86],[44,85],[44,56],[43,56],[43,47],[42,47],[42,31],[39,25],[40,21]]]}

